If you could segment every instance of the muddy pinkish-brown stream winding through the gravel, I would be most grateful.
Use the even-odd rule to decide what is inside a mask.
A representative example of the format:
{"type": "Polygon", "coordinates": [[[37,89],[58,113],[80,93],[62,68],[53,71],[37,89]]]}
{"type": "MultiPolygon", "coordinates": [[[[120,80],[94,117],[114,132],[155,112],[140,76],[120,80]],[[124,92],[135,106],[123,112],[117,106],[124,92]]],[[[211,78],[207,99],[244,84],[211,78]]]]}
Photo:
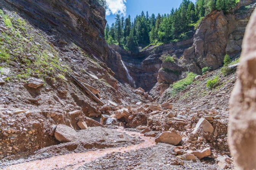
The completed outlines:
{"type": "Polygon", "coordinates": [[[60,156],[54,156],[48,159],[38,160],[38,161],[31,161],[22,164],[11,165],[6,168],[6,170],[53,170],[54,168],[65,168],[66,170],[77,169],[78,167],[82,166],[83,164],[89,163],[100,157],[106,156],[107,154],[113,152],[130,152],[134,150],[138,150],[140,148],[147,148],[150,146],[154,146],[154,138],[152,137],[144,137],[142,134],[138,132],[128,132],[118,129],[117,131],[126,133],[130,136],[137,136],[141,137],[144,142],[139,143],[137,145],[131,146],[124,146],[118,148],[107,148],[107,149],[100,149],[96,151],[88,151],[85,153],[72,153],[72,154],[65,154],[60,156]]]}

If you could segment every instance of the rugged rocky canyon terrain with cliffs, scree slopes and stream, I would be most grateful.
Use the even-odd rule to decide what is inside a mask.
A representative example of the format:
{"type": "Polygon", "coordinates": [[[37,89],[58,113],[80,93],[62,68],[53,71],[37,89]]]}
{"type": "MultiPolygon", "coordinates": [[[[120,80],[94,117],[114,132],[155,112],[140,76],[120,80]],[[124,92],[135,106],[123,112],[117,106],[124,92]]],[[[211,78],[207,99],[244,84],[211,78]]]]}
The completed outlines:
{"type": "Polygon", "coordinates": [[[229,98],[254,3],[213,11],[194,38],[129,52],[107,46],[96,1],[1,1],[0,168],[235,169],[229,98]],[[175,91],[188,71],[199,75],[175,91]]]}

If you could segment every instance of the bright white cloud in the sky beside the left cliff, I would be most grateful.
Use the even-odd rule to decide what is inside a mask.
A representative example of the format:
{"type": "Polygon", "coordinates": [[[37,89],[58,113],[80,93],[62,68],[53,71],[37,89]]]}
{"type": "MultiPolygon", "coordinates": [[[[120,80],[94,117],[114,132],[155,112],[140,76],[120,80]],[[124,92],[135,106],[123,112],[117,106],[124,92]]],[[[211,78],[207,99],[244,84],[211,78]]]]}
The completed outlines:
{"type": "Polygon", "coordinates": [[[120,14],[126,15],[126,0],[106,0],[108,9],[106,10],[106,15],[110,14],[120,14]]]}

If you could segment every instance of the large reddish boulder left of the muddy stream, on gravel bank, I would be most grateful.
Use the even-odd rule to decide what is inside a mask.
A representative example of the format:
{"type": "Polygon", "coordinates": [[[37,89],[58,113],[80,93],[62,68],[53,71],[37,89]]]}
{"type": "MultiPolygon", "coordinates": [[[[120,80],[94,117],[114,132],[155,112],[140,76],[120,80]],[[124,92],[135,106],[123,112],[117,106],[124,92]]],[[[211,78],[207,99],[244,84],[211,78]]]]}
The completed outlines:
{"type": "Polygon", "coordinates": [[[54,137],[62,143],[73,142],[78,139],[77,132],[64,124],[58,124],[54,132],[54,137]]]}

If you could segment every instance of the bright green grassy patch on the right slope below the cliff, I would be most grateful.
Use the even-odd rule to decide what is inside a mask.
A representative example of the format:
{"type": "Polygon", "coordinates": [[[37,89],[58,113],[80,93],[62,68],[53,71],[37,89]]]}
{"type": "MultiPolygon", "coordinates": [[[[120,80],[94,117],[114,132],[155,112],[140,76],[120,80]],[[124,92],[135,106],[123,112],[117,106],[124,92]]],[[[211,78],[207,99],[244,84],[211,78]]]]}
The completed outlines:
{"type": "Polygon", "coordinates": [[[187,77],[185,79],[179,80],[178,82],[175,82],[171,85],[170,94],[172,97],[176,96],[180,91],[186,89],[186,87],[193,83],[193,80],[197,76],[197,74],[194,74],[192,72],[189,72],[187,74],[187,77]]]}

